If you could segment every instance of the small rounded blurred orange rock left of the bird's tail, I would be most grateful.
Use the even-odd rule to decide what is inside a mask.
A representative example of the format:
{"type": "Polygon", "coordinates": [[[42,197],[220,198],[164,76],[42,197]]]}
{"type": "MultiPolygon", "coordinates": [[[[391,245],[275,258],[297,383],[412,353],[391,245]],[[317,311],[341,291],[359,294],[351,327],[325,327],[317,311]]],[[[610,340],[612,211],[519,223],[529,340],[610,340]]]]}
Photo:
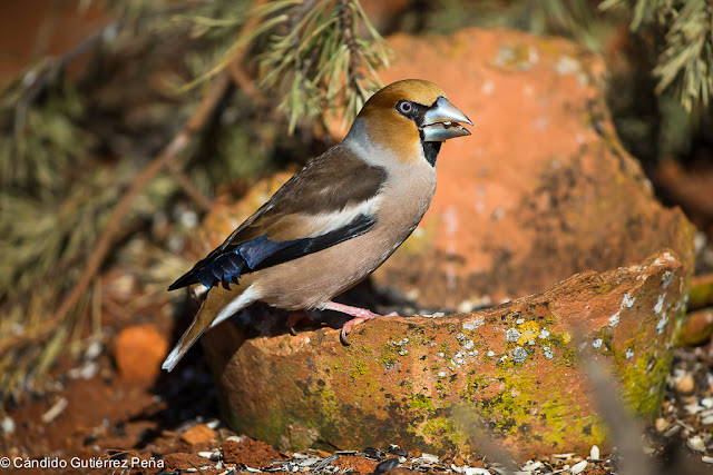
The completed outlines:
{"type": "Polygon", "coordinates": [[[116,342],[116,365],[126,380],[150,383],[160,372],[168,340],[152,324],[125,328],[116,342]]]}

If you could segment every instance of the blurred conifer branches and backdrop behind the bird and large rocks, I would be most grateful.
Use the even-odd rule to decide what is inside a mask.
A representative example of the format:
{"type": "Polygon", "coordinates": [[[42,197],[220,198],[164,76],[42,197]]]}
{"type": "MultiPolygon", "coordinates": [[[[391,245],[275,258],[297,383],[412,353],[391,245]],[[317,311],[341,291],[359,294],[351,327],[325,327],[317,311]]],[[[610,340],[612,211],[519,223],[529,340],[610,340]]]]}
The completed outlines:
{"type": "Polygon", "coordinates": [[[150,431],[131,426],[124,439],[119,431],[118,445],[141,446],[157,427],[216,416],[196,352],[179,382],[119,356],[125,342],[155,348],[160,360],[185,327],[192,310],[174,308],[165,288],[204,251],[198,224],[339,141],[333,123],[350,123],[380,87],[392,58],[384,37],[467,27],[564,37],[604,58],[616,132],[658,199],[697,227],[696,305],[712,305],[711,2],[3,1],[4,434],[22,431],[22,416],[61,412],[69,380],[87,407],[104,402],[95,378],[107,394],[135,392],[105,407],[106,418],[125,424],[137,407],[150,414],[150,431]]]}

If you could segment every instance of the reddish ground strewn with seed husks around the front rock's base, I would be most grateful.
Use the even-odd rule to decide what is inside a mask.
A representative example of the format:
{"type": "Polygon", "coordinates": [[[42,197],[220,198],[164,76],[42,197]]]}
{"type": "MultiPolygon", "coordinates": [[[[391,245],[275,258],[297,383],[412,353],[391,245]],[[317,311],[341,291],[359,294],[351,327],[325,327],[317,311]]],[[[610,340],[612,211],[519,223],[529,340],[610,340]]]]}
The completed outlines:
{"type": "MultiPolygon", "coordinates": [[[[125,330],[127,331],[127,330],[125,330]]],[[[140,344],[146,326],[131,329],[140,344]]],[[[149,338],[146,342],[150,340],[149,338]]],[[[58,368],[42,396],[2,420],[0,455],[35,464],[22,473],[53,473],[39,464],[67,464],[65,473],[458,473],[467,475],[706,473],[713,471],[713,343],[676,349],[666,398],[655,422],[645,424],[639,454],[649,467],[627,465],[619,449],[548,454],[515,466],[467,454],[408,452],[383,441],[377,447],[280,452],[235,434],[219,420],[216,394],[199,350],[174,374],[137,383],[131,372],[97,344],[79,367],[58,368]],[[131,379],[134,378],[134,379],[131,379]],[[94,464],[94,465],[90,465],[94,464]],[[75,465],[76,467],[74,467],[75,465]],[[644,471],[644,472],[642,472],[644,471]]],[[[136,362],[141,368],[156,362],[136,362]]],[[[136,369],[139,370],[139,369],[136,369]]],[[[631,427],[634,434],[639,431],[631,427]]],[[[497,445],[497,441],[496,445],[497,445]]],[[[638,441],[634,441],[638,444],[638,441]]],[[[626,448],[624,448],[626,449],[626,448]]],[[[629,456],[631,459],[631,456],[629,456]]],[[[634,461],[641,463],[641,461],[634,461]]]]}

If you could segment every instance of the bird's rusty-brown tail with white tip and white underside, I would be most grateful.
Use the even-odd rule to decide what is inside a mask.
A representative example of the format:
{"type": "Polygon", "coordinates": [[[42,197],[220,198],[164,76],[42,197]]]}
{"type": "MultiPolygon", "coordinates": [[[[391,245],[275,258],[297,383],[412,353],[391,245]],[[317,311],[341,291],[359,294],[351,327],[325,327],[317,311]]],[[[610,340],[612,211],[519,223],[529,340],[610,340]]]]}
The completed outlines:
{"type": "Polygon", "coordinates": [[[245,281],[242,291],[232,287],[231,289],[223,288],[221,286],[213,287],[206,299],[201,305],[198,313],[194,317],[188,329],[183,334],[174,349],[168,354],[164,364],[160,366],[163,369],[170,372],[176,367],[180,358],[184,357],[186,352],[193,346],[194,343],[201,338],[201,335],[208,328],[212,328],[223,320],[226,320],[236,311],[247,307],[260,297],[254,287],[245,281]],[[237,290],[237,291],[236,291],[237,290]]]}

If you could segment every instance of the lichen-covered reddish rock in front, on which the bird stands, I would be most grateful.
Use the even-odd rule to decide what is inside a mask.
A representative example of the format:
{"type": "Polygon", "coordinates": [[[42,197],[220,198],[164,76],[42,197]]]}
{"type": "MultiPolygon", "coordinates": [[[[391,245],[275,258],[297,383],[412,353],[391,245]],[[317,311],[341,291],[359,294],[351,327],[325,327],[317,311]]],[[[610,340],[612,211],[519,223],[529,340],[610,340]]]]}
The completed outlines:
{"type": "Polygon", "coordinates": [[[348,347],[335,329],[245,339],[229,321],[205,347],[227,423],[285,448],[445,453],[488,437],[522,459],[585,455],[606,427],[579,356],[611,372],[636,414],[656,415],[686,273],[663,251],[488,310],[371,320],[348,347]]]}

